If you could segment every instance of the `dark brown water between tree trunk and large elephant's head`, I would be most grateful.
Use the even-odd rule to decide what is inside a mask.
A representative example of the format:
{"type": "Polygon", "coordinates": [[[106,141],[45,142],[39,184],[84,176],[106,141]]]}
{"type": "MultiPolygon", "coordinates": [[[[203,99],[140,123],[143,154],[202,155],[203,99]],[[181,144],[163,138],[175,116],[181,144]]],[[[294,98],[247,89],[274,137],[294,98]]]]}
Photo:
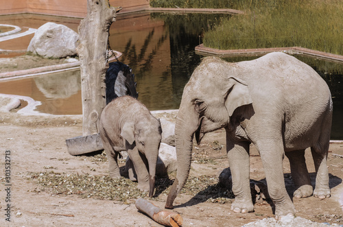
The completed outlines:
{"type": "Polygon", "coordinates": [[[139,99],[150,110],[178,108],[183,86],[200,62],[194,48],[223,17],[230,15],[152,13],[113,25],[110,45],[133,69],[139,99]]]}

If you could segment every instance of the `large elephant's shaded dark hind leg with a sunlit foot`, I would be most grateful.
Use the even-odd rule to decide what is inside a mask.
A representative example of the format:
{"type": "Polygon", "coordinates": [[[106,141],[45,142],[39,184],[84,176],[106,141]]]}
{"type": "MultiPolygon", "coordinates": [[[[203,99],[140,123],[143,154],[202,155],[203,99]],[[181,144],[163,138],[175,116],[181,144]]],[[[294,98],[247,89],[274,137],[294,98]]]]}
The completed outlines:
{"type": "Polygon", "coordinates": [[[309,178],[309,171],[305,162],[305,150],[285,152],[291,167],[292,180],[296,186],[293,196],[295,198],[305,198],[312,195],[314,189],[309,178]]]}

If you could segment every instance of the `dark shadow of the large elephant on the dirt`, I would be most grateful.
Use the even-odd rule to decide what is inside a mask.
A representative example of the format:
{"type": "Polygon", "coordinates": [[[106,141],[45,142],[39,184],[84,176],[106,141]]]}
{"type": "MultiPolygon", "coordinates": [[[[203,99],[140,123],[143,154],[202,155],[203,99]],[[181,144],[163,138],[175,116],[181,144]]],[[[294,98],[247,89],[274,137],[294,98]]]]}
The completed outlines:
{"type": "MultiPolygon", "coordinates": [[[[310,173],[310,178],[311,178],[311,184],[312,187],[314,187],[314,185],[316,184],[316,173],[310,173]]],[[[289,194],[289,197],[291,198],[291,200],[293,201],[293,193],[296,190],[296,187],[293,184],[292,181],[292,176],[290,173],[286,173],[284,174],[284,178],[285,178],[285,187],[287,190],[287,193],[289,194]]],[[[339,184],[342,183],[342,178],[339,178],[338,176],[334,176],[332,174],[329,174],[329,186],[330,189],[333,189],[334,187],[337,187],[339,184]]],[[[221,182],[217,182],[217,184],[211,184],[208,187],[206,187],[206,189],[199,191],[198,193],[196,193],[196,195],[193,196],[193,198],[191,198],[189,201],[180,204],[180,205],[176,205],[174,206],[174,208],[180,208],[180,207],[187,207],[187,206],[194,206],[196,204],[200,204],[203,202],[206,202],[208,200],[212,201],[212,202],[219,202],[219,203],[232,203],[235,199],[235,195],[233,194],[233,192],[231,191],[231,189],[228,187],[228,185],[230,185],[230,187],[232,187],[232,183],[226,183],[226,185],[223,185],[221,182]]],[[[272,212],[275,213],[275,205],[272,202],[272,200],[269,198],[268,195],[268,191],[267,191],[267,183],[265,178],[261,179],[261,180],[250,180],[250,189],[252,191],[251,195],[252,195],[252,201],[254,204],[256,203],[260,203],[260,202],[267,202],[268,204],[270,204],[270,206],[272,207],[272,212]],[[267,195],[265,195],[265,197],[259,198],[259,192],[257,193],[257,191],[253,190],[253,186],[252,183],[255,183],[256,185],[260,184],[264,184],[265,185],[265,193],[267,195]],[[258,201],[259,198],[259,201],[258,201]]],[[[261,190],[264,191],[263,189],[261,190]]]]}

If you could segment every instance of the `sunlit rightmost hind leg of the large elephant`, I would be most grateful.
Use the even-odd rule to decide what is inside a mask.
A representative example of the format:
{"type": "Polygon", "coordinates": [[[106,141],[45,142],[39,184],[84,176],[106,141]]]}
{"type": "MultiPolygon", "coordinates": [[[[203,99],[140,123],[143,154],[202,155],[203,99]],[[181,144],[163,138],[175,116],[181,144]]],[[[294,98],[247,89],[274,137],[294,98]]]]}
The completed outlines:
{"type": "Polygon", "coordinates": [[[324,147],[311,147],[314,167],[316,168],[316,188],[314,197],[324,199],[331,196],[329,187],[329,171],[327,169],[327,152],[329,145],[324,147]]]}

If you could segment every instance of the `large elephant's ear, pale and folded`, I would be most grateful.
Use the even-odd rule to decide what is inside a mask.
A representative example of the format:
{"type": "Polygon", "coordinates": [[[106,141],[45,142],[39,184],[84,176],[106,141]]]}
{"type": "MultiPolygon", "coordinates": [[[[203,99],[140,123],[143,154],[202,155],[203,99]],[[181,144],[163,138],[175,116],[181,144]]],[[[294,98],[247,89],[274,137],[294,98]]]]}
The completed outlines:
{"type": "Polygon", "coordinates": [[[239,106],[252,104],[248,85],[243,80],[239,80],[235,77],[229,79],[228,95],[225,100],[225,106],[228,110],[228,116],[231,117],[235,109],[239,106]]]}

